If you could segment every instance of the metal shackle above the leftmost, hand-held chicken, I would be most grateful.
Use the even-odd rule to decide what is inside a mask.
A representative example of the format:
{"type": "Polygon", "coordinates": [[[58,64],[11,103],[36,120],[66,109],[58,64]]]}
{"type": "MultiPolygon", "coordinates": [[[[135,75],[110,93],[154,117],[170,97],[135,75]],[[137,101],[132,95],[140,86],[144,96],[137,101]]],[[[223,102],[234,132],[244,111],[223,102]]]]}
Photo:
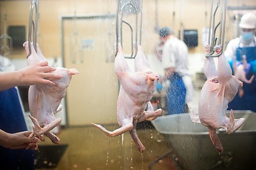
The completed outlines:
{"type": "Polygon", "coordinates": [[[29,32],[28,32],[28,41],[29,41],[29,54],[27,58],[31,55],[31,42],[33,42],[34,50],[36,50],[36,42],[37,42],[37,23],[38,23],[38,3],[39,0],[31,0],[30,5],[30,14],[29,14],[29,32]],[[33,20],[33,11],[35,9],[35,21],[33,20]],[[33,37],[32,37],[33,31],[33,37]],[[33,38],[33,41],[32,41],[33,38]]]}

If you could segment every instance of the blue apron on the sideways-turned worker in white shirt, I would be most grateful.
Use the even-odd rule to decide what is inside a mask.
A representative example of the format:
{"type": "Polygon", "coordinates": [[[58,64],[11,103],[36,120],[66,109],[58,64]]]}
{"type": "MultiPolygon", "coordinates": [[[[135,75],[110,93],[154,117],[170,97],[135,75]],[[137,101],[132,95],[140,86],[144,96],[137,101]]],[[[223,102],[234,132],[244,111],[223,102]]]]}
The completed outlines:
{"type": "Polygon", "coordinates": [[[169,77],[170,85],[166,90],[167,114],[185,112],[186,87],[180,75],[176,72],[169,77]]]}

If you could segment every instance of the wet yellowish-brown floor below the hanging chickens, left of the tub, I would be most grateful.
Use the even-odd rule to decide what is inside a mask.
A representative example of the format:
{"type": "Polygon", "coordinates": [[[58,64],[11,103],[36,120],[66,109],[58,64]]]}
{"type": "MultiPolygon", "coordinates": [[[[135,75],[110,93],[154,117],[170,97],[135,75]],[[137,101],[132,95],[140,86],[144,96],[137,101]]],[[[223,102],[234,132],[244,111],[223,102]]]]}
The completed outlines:
{"type": "MultiPolygon", "coordinates": [[[[118,128],[118,126],[106,126],[106,129],[109,130],[116,128],[118,128]]],[[[137,130],[137,133],[146,148],[142,155],[138,152],[129,132],[124,133],[122,144],[121,135],[110,139],[103,134],[103,132],[91,126],[61,129],[60,133],[57,135],[61,140],[60,144],[67,144],[68,147],[61,156],[57,166],[52,169],[141,170],[148,169],[150,164],[152,164],[151,169],[153,170],[177,169],[173,162],[172,155],[153,164],[155,160],[170,150],[165,142],[160,140],[163,136],[159,135],[155,129],[140,129],[137,130]]],[[[39,147],[42,145],[53,144],[47,139],[45,142],[39,143],[39,147]]]]}

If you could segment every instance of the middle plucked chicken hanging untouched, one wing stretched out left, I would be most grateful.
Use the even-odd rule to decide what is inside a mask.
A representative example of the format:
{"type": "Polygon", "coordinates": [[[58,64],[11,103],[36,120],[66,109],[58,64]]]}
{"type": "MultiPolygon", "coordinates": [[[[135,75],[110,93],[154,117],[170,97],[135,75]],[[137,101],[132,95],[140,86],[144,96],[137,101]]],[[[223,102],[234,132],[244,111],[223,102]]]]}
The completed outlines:
{"type": "Polygon", "coordinates": [[[117,101],[117,120],[120,128],[111,132],[101,125],[93,123],[92,125],[101,129],[109,137],[118,136],[129,131],[136,143],[136,147],[142,153],[145,147],[137,136],[136,124],[146,119],[152,120],[156,118],[162,113],[162,109],[152,110],[150,100],[152,99],[159,76],[150,70],[139,45],[138,53],[135,57],[135,71],[133,72],[129,69],[123,57],[122,47],[119,44],[115,59],[115,72],[121,83],[117,101]],[[145,111],[147,104],[151,108],[149,109],[150,111],[145,111]]]}

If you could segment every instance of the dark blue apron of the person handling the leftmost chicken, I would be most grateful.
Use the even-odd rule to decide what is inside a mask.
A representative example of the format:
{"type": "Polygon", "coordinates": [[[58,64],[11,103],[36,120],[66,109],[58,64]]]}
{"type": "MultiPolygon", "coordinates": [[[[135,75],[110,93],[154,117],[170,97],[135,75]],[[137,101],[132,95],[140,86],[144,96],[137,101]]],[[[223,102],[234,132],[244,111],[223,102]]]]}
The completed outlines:
{"type": "MultiPolygon", "coordinates": [[[[16,88],[0,91],[0,129],[8,133],[27,131],[16,88]]],[[[34,169],[34,151],[0,146],[0,169],[34,169]]]]}

